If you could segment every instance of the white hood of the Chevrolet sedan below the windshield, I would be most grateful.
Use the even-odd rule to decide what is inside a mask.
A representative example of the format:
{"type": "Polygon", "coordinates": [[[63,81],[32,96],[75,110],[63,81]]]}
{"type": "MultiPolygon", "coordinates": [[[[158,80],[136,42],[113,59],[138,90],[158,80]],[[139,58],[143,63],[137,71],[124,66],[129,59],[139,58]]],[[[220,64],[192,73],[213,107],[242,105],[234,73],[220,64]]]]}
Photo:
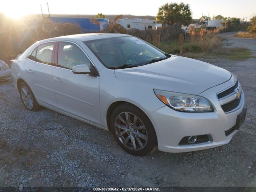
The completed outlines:
{"type": "Polygon", "coordinates": [[[232,74],[206,62],[171,56],[152,64],[115,70],[118,80],[160,90],[199,94],[228,81],[232,74]]]}

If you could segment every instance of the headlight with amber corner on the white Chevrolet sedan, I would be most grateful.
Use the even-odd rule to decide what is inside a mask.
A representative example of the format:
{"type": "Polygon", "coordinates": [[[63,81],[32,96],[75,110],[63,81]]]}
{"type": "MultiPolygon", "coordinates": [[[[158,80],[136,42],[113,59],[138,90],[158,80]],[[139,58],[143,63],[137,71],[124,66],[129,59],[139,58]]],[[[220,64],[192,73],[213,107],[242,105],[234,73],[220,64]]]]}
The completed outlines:
{"type": "Polygon", "coordinates": [[[156,96],[172,109],[182,112],[212,112],[210,101],[197,95],[154,89],[156,96]]]}

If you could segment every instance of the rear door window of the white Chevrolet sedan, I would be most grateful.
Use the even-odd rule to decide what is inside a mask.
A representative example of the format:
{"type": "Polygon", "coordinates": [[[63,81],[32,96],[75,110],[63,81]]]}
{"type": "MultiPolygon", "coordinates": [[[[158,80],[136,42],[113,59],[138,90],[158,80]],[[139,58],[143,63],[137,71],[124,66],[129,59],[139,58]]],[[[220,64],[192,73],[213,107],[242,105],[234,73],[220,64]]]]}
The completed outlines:
{"type": "Polygon", "coordinates": [[[51,64],[54,42],[39,45],[30,54],[29,58],[36,62],[51,64]]]}

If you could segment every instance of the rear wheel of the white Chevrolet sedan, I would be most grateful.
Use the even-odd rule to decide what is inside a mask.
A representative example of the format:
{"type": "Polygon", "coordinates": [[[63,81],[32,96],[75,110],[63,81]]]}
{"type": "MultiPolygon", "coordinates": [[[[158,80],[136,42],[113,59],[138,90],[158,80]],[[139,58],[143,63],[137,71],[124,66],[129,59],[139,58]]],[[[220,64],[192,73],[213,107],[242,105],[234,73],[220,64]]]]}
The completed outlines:
{"type": "Polygon", "coordinates": [[[39,111],[41,109],[41,106],[36,101],[36,98],[28,84],[21,82],[19,86],[19,92],[22,103],[27,110],[39,111]]]}

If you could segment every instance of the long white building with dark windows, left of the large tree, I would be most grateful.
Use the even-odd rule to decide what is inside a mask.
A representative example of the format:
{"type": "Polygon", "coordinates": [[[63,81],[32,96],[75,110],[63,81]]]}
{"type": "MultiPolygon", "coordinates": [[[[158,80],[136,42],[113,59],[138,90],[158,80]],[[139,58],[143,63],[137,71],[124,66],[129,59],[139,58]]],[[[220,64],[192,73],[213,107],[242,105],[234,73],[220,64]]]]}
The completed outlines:
{"type": "Polygon", "coordinates": [[[146,30],[146,29],[157,29],[162,27],[162,24],[157,24],[155,20],[148,19],[127,19],[122,18],[116,20],[116,23],[122,25],[127,30],[135,28],[138,30],[146,30]]]}

